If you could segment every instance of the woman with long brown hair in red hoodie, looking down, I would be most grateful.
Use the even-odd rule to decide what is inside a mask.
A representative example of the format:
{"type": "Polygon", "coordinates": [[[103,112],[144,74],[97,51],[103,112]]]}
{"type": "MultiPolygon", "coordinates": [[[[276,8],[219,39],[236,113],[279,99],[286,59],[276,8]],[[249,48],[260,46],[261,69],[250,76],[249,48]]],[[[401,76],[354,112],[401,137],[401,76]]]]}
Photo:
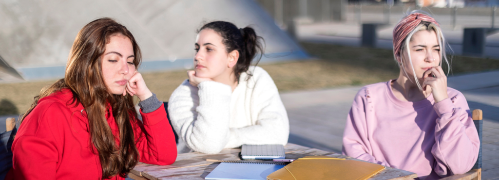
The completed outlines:
{"type": "Polygon", "coordinates": [[[125,26],[110,18],[85,25],[64,79],[42,90],[22,116],[6,179],[123,180],[139,161],[172,164],[174,134],[163,103],[137,72],[140,62],[125,26]]]}

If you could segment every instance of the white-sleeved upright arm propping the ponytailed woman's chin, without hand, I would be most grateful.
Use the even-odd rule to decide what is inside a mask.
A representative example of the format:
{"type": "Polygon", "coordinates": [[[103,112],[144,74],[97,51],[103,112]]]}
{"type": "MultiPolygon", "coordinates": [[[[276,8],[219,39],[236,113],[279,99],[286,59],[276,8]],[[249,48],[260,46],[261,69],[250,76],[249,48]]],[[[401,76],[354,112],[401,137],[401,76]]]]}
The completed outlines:
{"type": "Polygon", "coordinates": [[[174,91],[169,104],[170,118],[189,148],[216,154],[229,140],[232,90],[212,81],[202,82],[198,88],[184,82],[174,91]]]}

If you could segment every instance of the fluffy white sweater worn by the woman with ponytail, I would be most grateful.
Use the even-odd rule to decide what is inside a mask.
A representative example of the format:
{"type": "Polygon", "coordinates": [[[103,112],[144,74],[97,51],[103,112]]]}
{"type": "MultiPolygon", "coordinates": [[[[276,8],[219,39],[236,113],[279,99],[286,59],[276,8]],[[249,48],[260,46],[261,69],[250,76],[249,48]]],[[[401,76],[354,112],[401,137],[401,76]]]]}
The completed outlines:
{"type": "Polygon", "coordinates": [[[246,81],[242,73],[234,91],[214,81],[194,87],[186,80],[172,93],[168,113],[188,148],[216,154],[243,144],[287,143],[289,120],[277,87],[262,68],[250,71],[253,76],[246,81]]]}

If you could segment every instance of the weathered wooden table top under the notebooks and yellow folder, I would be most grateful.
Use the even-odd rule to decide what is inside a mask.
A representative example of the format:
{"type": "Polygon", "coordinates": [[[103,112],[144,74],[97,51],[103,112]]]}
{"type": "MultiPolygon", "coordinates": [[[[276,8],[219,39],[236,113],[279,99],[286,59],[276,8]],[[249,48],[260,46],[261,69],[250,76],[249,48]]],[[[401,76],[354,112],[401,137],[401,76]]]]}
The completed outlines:
{"type": "MultiPolygon", "coordinates": [[[[284,146],[286,159],[298,159],[305,156],[329,156],[357,160],[341,154],[307,148],[288,143],[284,146]]],[[[204,180],[220,163],[208,162],[206,159],[241,160],[241,149],[224,149],[219,154],[185,153],[177,156],[177,161],[168,166],[149,165],[139,163],[128,174],[134,180],[204,180]]],[[[361,161],[361,160],[358,160],[361,161]]],[[[415,173],[386,167],[381,173],[369,180],[410,180],[417,178],[415,173]]]]}

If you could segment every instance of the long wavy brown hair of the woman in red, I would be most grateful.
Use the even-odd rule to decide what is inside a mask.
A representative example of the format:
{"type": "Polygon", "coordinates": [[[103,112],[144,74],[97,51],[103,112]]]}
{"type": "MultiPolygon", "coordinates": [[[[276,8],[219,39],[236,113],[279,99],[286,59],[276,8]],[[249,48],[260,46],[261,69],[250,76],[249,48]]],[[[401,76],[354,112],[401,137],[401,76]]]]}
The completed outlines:
{"type": "MultiPolygon", "coordinates": [[[[76,36],[69,54],[64,79],[60,79],[50,87],[41,90],[34,97],[31,107],[22,115],[20,122],[36,107],[38,100],[62,89],[73,93],[72,102],[81,103],[87,112],[90,131],[90,147],[95,146],[102,166],[102,178],[109,179],[119,175],[123,178],[137,165],[139,152],[135,146],[131,120],[137,119],[133,96],[112,94],[104,84],[102,76],[102,55],[106,44],[112,36],[124,36],[130,39],[135,54],[133,63],[139,67],[141,62],[140,48],[132,33],[111,18],[96,19],[85,25],[76,36]],[[119,147],[107,124],[107,104],[119,129],[119,147]]],[[[93,148],[91,148],[93,151],[93,148]]],[[[95,152],[94,152],[95,153],[95,152]]]]}

